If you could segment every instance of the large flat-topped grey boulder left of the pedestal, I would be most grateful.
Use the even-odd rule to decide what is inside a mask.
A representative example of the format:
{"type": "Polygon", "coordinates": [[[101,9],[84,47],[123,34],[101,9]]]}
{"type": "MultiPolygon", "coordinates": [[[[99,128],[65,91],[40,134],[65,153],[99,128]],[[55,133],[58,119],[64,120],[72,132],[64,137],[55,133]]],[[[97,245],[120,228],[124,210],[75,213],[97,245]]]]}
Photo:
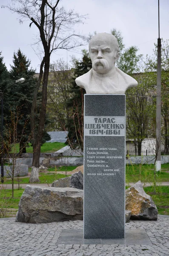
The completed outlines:
{"type": "Polygon", "coordinates": [[[83,191],[27,185],[15,221],[49,223],[83,219],[83,191]]]}

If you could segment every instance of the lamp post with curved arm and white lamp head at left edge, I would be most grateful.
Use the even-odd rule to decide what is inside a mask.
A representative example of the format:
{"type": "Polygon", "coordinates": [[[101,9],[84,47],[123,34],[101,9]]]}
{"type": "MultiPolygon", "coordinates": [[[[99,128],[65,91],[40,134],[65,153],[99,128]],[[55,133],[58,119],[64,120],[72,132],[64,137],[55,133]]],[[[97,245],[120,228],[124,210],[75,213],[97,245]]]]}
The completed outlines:
{"type": "MultiPolygon", "coordinates": [[[[24,78],[20,78],[20,79],[17,79],[14,84],[17,84],[18,82],[20,83],[23,83],[25,81],[24,78]]],[[[4,178],[4,165],[3,165],[3,94],[4,94],[4,91],[11,87],[12,85],[14,84],[11,84],[9,86],[7,86],[6,88],[3,89],[3,92],[1,94],[1,139],[2,139],[2,145],[1,145],[1,182],[3,183],[3,178],[4,178]]]]}

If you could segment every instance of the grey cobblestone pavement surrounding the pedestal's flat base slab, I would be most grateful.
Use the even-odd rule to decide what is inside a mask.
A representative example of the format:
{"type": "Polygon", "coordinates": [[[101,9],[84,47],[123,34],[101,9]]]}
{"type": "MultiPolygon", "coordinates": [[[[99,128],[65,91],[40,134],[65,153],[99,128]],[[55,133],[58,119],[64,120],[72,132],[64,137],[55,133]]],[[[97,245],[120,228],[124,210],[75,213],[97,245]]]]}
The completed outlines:
{"type": "Polygon", "coordinates": [[[152,245],[56,245],[63,229],[75,228],[82,229],[83,221],[26,224],[0,219],[0,256],[169,256],[169,217],[126,224],[126,229],[144,228],[152,245]]]}

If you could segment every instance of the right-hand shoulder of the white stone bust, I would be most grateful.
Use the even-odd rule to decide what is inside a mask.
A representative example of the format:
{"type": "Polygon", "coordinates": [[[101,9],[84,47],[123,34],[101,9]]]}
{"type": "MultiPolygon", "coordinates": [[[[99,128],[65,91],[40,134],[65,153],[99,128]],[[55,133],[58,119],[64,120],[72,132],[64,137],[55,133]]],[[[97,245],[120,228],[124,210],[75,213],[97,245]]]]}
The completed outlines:
{"type": "Polygon", "coordinates": [[[117,77],[119,79],[119,84],[124,83],[126,84],[127,88],[135,87],[138,85],[137,81],[132,77],[124,73],[118,67],[116,67],[117,77]]]}

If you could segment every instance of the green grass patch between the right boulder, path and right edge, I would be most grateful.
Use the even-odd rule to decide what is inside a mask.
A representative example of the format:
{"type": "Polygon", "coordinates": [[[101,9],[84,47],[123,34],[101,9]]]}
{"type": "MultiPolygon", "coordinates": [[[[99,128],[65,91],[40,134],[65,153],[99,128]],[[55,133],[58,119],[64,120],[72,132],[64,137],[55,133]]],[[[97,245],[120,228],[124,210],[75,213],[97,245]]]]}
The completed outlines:
{"type": "Polygon", "coordinates": [[[145,187],[145,192],[151,195],[158,209],[158,214],[169,215],[169,187],[168,186],[153,186],[145,187]],[[155,191],[154,191],[155,190],[155,191]]]}

